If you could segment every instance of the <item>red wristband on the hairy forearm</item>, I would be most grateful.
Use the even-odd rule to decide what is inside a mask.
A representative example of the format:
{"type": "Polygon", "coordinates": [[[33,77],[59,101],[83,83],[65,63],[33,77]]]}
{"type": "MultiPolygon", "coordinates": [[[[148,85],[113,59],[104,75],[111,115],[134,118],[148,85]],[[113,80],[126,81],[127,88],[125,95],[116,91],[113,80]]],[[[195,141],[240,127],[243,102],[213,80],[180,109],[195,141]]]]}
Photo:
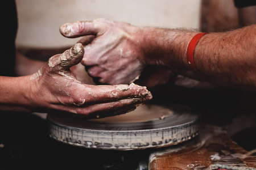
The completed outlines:
{"type": "Polygon", "coordinates": [[[187,58],[188,58],[188,65],[191,67],[191,70],[197,74],[200,75],[199,71],[196,69],[195,62],[194,62],[194,50],[196,47],[197,42],[203,37],[206,32],[198,33],[195,35],[192,40],[188,44],[188,49],[187,49],[187,58]]]}

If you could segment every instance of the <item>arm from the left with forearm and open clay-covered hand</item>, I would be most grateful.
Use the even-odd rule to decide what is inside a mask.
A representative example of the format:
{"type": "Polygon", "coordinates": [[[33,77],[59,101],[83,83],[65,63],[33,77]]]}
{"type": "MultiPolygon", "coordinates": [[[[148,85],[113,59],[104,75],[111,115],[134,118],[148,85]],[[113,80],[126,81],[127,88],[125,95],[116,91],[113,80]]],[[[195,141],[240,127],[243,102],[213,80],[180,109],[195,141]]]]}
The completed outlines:
{"type": "Polygon", "coordinates": [[[85,117],[105,117],[135,109],[152,99],[146,87],[135,84],[93,86],[82,84],[70,67],[84,54],[76,44],[57,54],[32,75],[0,76],[0,109],[16,112],[75,113],[85,117]]]}

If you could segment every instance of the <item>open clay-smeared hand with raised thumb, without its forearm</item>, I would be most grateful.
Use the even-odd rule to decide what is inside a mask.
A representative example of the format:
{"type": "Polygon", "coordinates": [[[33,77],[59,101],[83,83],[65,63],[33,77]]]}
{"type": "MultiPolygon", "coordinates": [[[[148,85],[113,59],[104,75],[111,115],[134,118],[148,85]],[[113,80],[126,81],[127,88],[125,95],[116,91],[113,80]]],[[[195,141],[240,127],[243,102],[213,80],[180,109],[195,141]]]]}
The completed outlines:
{"type": "Polygon", "coordinates": [[[37,96],[36,100],[31,99],[35,108],[48,113],[57,111],[105,117],[131,111],[152,98],[146,87],[135,84],[82,84],[70,67],[79,63],[83,56],[83,46],[78,43],[63,54],[49,58],[48,63],[31,76],[30,94],[37,96]]]}

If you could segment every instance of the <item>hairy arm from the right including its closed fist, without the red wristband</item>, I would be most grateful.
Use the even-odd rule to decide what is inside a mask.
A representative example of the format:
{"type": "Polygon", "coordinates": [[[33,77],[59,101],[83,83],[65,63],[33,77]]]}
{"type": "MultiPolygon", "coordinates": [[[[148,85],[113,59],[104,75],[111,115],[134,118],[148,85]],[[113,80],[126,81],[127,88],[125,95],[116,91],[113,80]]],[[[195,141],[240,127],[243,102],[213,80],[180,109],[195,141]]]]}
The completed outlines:
{"type": "MultiPolygon", "coordinates": [[[[187,60],[187,47],[196,31],[135,27],[105,19],[63,24],[66,37],[84,36],[82,64],[101,83],[129,83],[146,65],[168,66],[174,73],[220,86],[256,90],[256,24],[222,33],[209,33],[196,45],[194,59],[200,76],[187,60]],[[88,35],[94,35],[92,39],[88,35]]],[[[160,75],[161,76],[161,75],[160,75]]]]}

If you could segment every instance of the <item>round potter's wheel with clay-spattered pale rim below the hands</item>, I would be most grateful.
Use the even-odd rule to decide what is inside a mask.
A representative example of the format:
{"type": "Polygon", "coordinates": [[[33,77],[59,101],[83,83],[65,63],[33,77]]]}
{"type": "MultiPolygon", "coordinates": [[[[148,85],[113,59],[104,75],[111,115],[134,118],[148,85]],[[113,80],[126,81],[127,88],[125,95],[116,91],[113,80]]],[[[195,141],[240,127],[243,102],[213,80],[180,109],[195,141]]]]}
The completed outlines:
{"type": "Polygon", "coordinates": [[[144,104],[135,111],[94,120],[49,114],[57,141],[85,148],[135,150],[176,145],[197,135],[199,113],[184,105],[144,104]]]}

